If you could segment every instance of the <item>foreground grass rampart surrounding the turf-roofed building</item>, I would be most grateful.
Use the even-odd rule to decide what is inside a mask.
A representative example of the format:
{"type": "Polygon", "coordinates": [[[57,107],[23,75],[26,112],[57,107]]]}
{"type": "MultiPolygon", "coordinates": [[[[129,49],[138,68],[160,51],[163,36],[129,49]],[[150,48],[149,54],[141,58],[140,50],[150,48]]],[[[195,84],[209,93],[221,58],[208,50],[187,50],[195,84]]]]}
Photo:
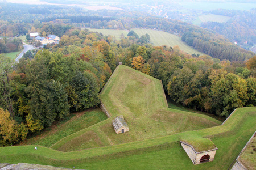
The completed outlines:
{"type": "Polygon", "coordinates": [[[256,128],[256,107],[238,108],[224,125],[120,145],[61,152],[36,145],[0,148],[0,162],[36,163],[81,169],[228,169],[256,128]],[[179,141],[210,138],[213,162],[193,165],[179,141]]]}

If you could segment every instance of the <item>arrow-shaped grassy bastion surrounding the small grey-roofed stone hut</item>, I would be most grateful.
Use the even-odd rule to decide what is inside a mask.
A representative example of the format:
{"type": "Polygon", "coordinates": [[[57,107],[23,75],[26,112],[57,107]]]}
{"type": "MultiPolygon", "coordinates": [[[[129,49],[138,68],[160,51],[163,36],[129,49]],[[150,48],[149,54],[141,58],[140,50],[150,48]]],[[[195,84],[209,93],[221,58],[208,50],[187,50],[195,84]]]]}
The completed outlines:
{"type": "Polygon", "coordinates": [[[112,117],[61,139],[51,148],[76,151],[142,141],[221,124],[203,114],[169,109],[160,80],[125,65],[117,67],[102,90],[100,99],[112,117]],[[118,115],[125,117],[129,132],[115,133],[112,120],[118,115]]]}

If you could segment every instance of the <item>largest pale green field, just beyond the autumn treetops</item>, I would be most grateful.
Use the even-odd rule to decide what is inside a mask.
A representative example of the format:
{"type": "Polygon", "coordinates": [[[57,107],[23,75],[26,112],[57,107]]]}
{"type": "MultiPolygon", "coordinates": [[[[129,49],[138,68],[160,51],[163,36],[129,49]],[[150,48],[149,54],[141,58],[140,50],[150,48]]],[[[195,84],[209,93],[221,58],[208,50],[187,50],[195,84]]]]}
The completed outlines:
{"type": "MultiPolygon", "coordinates": [[[[97,31],[101,32],[103,35],[112,35],[115,36],[117,40],[119,40],[120,35],[123,33],[125,37],[127,36],[129,31],[126,30],[113,30],[113,29],[90,29],[90,31],[97,31]]],[[[157,31],[157,30],[152,30],[152,29],[139,29],[139,28],[134,28],[131,29],[134,32],[136,32],[139,36],[145,35],[148,33],[150,35],[150,42],[154,46],[162,46],[162,45],[167,45],[167,46],[176,46],[178,45],[180,47],[180,50],[183,50],[186,53],[189,54],[200,54],[204,55],[204,53],[201,53],[195,49],[193,49],[191,46],[188,46],[181,40],[181,37],[173,35],[168,32],[163,32],[163,31],[157,31]]]]}

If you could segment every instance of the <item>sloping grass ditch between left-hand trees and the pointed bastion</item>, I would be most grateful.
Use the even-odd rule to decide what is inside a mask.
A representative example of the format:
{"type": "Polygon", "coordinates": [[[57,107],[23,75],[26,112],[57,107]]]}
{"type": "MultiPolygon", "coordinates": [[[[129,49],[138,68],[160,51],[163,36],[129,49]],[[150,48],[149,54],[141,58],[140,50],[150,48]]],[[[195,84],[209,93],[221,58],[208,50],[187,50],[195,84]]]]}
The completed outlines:
{"type": "Polygon", "coordinates": [[[72,118],[67,122],[64,121],[52,125],[49,130],[43,131],[42,134],[34,138],[26,139],[26,141],[22,141],[19,145],[36,144],[50,147],[60,139],[104,121],[106,118],[108,117],[106,117],[106,114],[100,108],[92,108],[83,112],[73,113],[72,118]]]}

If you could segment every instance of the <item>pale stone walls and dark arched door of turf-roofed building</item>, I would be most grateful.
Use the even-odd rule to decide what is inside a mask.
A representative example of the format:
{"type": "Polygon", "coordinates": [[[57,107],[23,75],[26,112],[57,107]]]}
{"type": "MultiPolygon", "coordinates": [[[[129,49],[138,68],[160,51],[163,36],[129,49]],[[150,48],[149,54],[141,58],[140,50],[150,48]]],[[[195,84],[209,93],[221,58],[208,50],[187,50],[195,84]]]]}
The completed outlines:
{"type": "Polygon", "coordinates": [[[184,148],[185,152],[189,156],[189,158],[192,160],[193,164],[200,164],[205,162],[210,162],[214,160],[214,156],[216,154],[217,147],[208,151],[201,151],[197,152],[195,148],[193,148],[192,145],[189,145],[188,143],[180,141],[181,146],[184,148]]]}

